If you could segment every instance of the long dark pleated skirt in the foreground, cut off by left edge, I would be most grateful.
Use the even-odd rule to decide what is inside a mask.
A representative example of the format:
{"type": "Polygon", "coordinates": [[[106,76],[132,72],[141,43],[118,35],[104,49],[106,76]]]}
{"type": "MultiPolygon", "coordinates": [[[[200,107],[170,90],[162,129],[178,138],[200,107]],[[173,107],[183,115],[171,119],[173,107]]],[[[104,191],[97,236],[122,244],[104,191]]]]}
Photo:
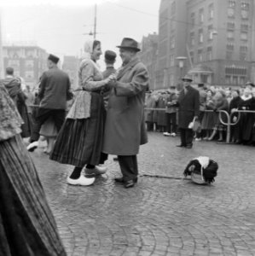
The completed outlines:
{"type": "Polygon", "coordinates": [[[20,135],[0,142],[0,255],[66,255],[20,135]]]}

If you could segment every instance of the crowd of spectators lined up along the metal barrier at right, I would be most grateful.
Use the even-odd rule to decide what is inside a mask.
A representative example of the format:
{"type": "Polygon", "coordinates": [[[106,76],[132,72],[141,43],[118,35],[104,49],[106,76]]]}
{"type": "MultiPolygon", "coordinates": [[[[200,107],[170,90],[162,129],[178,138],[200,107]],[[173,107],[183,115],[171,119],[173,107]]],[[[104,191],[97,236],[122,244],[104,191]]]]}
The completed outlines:
{"type": "MultiPolygon", "coordinates": [[[[201,132],[194,134],[196,141],[219,141],[226,139],[227,114],[231,121],[231,143],[255,146],[255,87],[252,83],[236,88],[196,84],[200,91],[201,132]],[[211,110],[211,111],[206,111],[211,110]],[[238,113],[237,111],[240,111],[238,113]],[[254,113],[246,112],[254,111],[254,113]]],[[[162,132],[175,137],[178,133],[178,109],[175,106],[179,87],[149,91],[146,96],[145,120],[148,131],[162,132]],[[178,90],[177,90],[178,89],[178,90]]]]}

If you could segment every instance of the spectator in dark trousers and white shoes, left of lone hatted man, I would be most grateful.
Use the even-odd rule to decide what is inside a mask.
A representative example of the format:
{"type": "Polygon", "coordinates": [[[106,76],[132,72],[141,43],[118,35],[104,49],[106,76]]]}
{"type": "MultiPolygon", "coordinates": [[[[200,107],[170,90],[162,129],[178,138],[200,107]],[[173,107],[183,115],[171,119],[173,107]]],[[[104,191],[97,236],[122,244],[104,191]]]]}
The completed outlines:
{"type": "Polygon", "coordinates": [[[166,98],[166,132],[164,132],[164,136],[177,136],[177,107],[175,106],[176,103],[176,86],[170,86],[169,95],[166,98]]]}

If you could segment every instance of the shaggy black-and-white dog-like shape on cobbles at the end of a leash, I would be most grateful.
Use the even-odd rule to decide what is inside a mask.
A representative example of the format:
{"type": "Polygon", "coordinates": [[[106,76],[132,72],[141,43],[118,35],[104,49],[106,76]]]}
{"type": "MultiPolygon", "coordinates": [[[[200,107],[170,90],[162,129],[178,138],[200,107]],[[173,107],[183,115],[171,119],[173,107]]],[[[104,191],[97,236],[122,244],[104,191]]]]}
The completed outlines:
{"type": "Polygon", "coordinates": [[[207,156],[200,156],[191,160],[185,168],[183,175],[190,176],[194,183],[210,184],[214,182],[217,176],[218,165],[214,160],[207,156]]]}

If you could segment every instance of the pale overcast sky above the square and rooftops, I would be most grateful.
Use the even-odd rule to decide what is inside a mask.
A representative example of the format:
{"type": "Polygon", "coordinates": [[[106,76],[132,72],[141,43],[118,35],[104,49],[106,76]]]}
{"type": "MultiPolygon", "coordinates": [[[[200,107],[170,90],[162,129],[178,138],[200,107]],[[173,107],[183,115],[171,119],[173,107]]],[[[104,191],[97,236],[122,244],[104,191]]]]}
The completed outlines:
{"type": "MultiPolygon", "coordinates": [[[[2,38],[5,42],[37,44],[48,53],[80,55],[84,42],[93,39],[95,4],[96,39],[104,52],[122,38],[141,42],[158,32],[160,0],[1,0],[2,38]]],[[[103,58],[99,61],[103,65],[103,58]]],[[[119,56],[118,61],[119,63],[119,56]]]]}

